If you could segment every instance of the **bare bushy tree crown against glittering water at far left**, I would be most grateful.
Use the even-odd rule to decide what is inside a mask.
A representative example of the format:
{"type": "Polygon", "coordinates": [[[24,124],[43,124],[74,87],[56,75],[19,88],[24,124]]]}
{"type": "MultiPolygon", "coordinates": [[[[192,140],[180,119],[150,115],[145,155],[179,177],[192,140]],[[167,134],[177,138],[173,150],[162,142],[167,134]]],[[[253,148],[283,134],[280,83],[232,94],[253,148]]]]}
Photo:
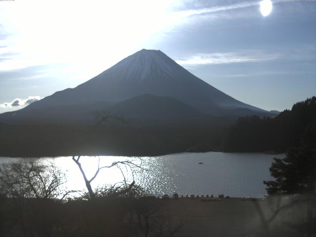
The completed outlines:
{"type": "Polygon", "coordinates": [[[53,163],[40,158],[21,158],[0,167],[0,187],[5,197],[64,198],[66,175],[53,163]]]}

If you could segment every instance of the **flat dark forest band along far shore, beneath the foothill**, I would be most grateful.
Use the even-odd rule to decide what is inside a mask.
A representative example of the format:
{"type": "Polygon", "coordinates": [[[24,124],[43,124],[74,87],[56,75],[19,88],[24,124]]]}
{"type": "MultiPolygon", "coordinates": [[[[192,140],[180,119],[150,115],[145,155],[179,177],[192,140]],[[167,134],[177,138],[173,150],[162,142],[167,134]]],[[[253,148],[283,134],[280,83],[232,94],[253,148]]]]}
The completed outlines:
{"type": "Polygon", "coordinates": [[[0,156],[158,156],[219,151],[227,128],[0,124],[0,156]]]}

